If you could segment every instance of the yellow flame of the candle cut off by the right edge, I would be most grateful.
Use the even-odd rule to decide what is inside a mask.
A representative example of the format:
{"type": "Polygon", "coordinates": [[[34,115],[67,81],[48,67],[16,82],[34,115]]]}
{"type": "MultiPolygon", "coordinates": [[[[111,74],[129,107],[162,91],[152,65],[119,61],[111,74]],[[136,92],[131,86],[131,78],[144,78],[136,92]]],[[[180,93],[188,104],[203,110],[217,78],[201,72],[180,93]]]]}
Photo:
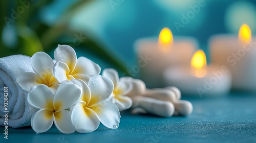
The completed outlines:
{"type": "Polygon", "coordinates": [[[242,43],[250,43],[251,42],[251,30],[248,25],[243,24],[238,33],[239,40],[242,43]]]}

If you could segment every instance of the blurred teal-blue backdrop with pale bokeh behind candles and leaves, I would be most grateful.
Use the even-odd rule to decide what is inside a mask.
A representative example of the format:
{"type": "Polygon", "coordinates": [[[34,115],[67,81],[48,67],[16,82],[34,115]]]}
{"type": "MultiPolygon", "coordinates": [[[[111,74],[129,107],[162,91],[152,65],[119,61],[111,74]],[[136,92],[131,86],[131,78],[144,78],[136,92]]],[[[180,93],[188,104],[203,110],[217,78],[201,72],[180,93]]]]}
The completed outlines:
{"type": "MultiPolygon", "coordinates": [[[[20,5],[18,1],[16,5],[13,2],[16,1],[8,1],[6,3],[7,6],[4,8],[7,9],[7,14],[5,16],[10,17],[12,12],[10,10],[15,10],[20,5]]],[[[29,24],[36,21],[53,27],[59,22],[59,17],[63,16],[63,14],[67,15],[65,11],[77,2],[81,1],[50,1],[44,7],[39,7],[38,12],[28,22],[28,26],[32,28],[33,25],[29,24]]],[[[116,0],[94,0],[88,4],[80,5],[72,13],[72,17],[67,18],[67,23],[70,29],[86,32],[89,35],[97,37],[94,40],[104,45],[113,57],[116,57],[129,69],[137,64],[136,53],[133,47],[134,41],[142,37],[158,36],[164,27],[168,27],[173,32],[174,39],[176,36],[191,36],[196,38],[199,41],[198,48],[205,51],[208,62],[210,62],[208,39],[212,35],[221,33],[237,35],[242,23],[249,25],[252,34],[256,33],[256,1],[253,0],[124,0],[119,1],[120,3],[117,5],[113,5],[113,3],[111,5],[110,2],[117,3],[116,0]],[[194,13],[189,18],[188,23],[183,23],[184,27],[178,30],[175,27],[175,22],[182,24],[182,14],[187,15],[193,11],[191,7],[197,7],[200,2],[203,2],[205,6],[200,7],[198,13],[194,13]]],[[[36,3],[38,2],[35,1],[31,4],[36,3]]],[[[17,37],[10,36],[13,33],[15,34],[15,31],[9,30],[8,33],[1,35],[4,43],[3,46],[17,48],[12,47],[12,45],[18,43],[15,40],[17,37]],[[6,40],[7,38],[9,40],[6,40]],[[6,43],[5,41],[8,42],[6,43]]],[[[77,34],[79,35],[79,33],[77,34]]],[[[69,38],[72,41],[76,37],[71,35],[69,38]]],[[[61,38],[58,40],[61,41],[61,38]]],[[[51,46],[50,48],[54,50],[57,44],[51,46]]],[[[77,50],[77,52],[78,56],[86,56],[100,64],[102,68],[113,67],[112,63],[99,59],[91,51],[84,52],[77,50]]],[[[48,53],[53,56],[53,52],[48,53]]]]}

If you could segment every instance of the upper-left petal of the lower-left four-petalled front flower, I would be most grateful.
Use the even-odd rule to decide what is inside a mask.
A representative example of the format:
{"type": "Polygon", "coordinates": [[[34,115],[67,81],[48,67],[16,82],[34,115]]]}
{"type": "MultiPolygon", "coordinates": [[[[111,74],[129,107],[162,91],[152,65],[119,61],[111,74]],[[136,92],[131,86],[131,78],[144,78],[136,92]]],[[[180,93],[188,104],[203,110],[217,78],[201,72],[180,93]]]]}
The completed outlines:
{"type": "Polygon", "coordinates": [[[39,109],[53,110],[53,98],[54,94],[49,87],[44,84],[33,87],[28,93],[28,103],[39,109]]]}

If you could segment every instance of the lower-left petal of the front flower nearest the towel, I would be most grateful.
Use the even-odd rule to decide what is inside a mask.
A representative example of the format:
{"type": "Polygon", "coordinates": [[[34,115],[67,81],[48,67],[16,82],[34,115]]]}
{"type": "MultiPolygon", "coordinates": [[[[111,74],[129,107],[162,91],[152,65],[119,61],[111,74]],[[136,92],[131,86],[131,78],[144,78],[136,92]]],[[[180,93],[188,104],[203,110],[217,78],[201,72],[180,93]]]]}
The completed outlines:
{"type": "Polygon", "coordinates": [[[40,109],[31,118],[31,127],[36,133],[48,131],[52,124],[53,112],[49,109],[40,109]]]}

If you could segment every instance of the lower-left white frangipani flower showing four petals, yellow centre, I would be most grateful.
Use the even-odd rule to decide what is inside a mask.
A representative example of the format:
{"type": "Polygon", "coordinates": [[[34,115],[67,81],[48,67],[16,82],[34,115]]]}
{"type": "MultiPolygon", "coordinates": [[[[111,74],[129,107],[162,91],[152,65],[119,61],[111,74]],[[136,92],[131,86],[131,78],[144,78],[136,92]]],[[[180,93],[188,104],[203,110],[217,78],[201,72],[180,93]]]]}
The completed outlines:
{"type": "Polygon", "coordinates": [[[31,118],[31,127],[36,133],[48,131],[54,122],[62,133],[73,133],[71,111],[67,110],[81,98],[81,88],[75,84],[61,84],[53,94],[48,86],[33,87],[28,94],[28,103],[39,110],[31,118]]]}

